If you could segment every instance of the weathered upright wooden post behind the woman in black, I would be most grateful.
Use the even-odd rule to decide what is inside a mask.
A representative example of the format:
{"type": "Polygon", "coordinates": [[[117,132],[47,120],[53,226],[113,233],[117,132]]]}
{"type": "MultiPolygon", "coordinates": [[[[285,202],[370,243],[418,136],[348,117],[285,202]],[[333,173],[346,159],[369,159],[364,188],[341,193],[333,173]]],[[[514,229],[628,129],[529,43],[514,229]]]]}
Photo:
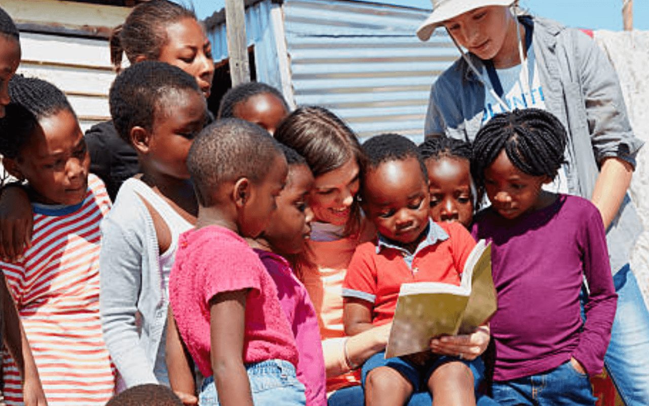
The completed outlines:
{"type": "Polygon", "coordinates": [[[234,87],[250,82],[243,0],[225,0],[225,28],[228,34],[230,77],[232,78],[232,87],[234,87]]]}

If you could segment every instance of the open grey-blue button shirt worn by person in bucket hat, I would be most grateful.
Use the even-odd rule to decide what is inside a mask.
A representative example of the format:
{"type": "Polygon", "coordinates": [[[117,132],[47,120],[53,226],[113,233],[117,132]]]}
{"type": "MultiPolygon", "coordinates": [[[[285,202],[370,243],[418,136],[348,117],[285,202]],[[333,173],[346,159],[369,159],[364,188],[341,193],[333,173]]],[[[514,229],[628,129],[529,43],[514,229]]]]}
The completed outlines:
{"type": "MultiPolygon", "coordinates": [[[[633,135],[613,66],[595,42],[576,29],[547,19],[523,16],[533,27],[532,46],[545,106],[566,127],[566,175],[571,194],[591,199],[599,165],[608,157],[629,162],[643,142],[633,135]]],[[[469,54],[478,70],[480,58],[469,54]]],[[[472,141],[484,112],[485,85],[460,58],[433,84],[425,134],[447,134],[472,141]]],[[[613,273],[629,262],[642,224],[628,193],[606,231],[613,273]]]]}

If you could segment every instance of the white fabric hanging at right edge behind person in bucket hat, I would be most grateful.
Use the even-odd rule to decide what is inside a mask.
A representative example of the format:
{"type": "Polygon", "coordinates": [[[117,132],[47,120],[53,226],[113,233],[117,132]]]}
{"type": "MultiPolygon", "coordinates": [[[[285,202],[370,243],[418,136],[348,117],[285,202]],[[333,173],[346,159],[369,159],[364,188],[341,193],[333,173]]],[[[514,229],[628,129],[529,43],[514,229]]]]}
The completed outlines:
{"type": "Polygon", "coordinates": [[[647,143],[636,157],[630,195],[644,226],[631,253],[631,269],[649,307],[649,32],[596,31],[594,38],[617,71],[635,136],[647,143]]]}

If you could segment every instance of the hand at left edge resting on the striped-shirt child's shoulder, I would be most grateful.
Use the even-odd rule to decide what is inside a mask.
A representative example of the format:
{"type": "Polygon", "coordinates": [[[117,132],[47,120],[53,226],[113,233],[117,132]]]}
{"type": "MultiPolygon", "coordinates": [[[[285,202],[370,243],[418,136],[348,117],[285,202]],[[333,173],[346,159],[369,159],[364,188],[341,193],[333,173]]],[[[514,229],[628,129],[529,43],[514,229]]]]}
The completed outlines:
{"type": "Polygon", "coordinates": [[[32,206],[25,189],[19,184],[0,191],[0,257],[7,262],[20,259],[31,247],[33,231],[32,206]]]}

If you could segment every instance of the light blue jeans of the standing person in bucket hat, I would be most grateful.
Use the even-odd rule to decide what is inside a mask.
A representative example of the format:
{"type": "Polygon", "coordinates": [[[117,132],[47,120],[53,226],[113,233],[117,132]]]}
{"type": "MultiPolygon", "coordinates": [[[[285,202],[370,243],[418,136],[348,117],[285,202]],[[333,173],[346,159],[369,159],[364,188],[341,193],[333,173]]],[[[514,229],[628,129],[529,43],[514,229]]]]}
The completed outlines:
{"type": "Polygon", "coordinates": [[[604,357],[606,370],[626,406],[649,405],[649,312],[631,268],[613,275],[617,311],[611,342],[604,357]]]}

